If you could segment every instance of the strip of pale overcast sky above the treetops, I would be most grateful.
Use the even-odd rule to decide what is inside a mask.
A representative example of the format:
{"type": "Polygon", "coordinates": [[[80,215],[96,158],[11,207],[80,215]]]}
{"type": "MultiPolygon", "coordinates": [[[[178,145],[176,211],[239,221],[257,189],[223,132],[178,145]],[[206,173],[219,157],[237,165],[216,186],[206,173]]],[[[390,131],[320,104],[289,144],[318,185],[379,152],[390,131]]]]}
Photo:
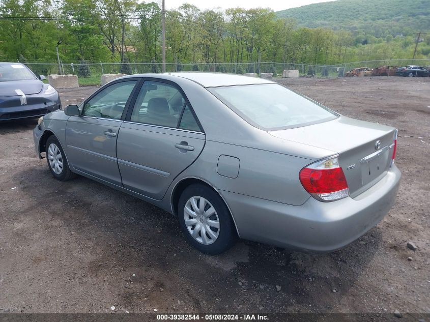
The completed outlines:
{"type": "MultiPolygon", "coordinates": [[[[165,0],[165,5],[167,10],[178,8],[186,2],[202,10],[213,9],[216,7],[220,7],[222,10],[237,7],[245,9],[263,7],[279,11],[326,1],[327,0],[165,0]]],[[[149,0],[146,2],[149,2],[149,0]]],[[[161,7],[161,0],[158,0],[158,3],[161,7]]]]}

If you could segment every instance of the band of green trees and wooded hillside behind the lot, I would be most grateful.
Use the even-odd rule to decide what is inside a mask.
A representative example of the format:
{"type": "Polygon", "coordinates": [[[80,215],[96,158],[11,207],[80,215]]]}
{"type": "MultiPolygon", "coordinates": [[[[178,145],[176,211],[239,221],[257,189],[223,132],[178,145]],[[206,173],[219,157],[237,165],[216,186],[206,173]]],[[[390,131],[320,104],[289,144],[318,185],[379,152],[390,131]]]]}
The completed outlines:
{"type": "MultiPolygon", "coordinates": [[[[339,0],[283,12],[296,19],[268,8],[183,4],[166,12],[166,61],[335,65],[410,59],[420,31],[415,56],[430,58],[429,2],[339,0]]],[[[68,63],[160,63],[161,8],[137,0],[0,0],[0,61],[55,63],[56,47],[68,63]]]]}

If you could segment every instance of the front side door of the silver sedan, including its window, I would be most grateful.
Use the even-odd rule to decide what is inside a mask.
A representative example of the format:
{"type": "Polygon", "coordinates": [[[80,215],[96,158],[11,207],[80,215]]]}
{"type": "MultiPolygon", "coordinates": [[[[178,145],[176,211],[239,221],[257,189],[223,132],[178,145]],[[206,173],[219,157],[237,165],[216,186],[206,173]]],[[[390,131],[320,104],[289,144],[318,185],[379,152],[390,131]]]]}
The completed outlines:
{"type": "Polygon", "coordinates": [[[117,138],[137,79],[125,79],[103,87],[70,116],[66,125],[68,159],[82,172],[116,185],[121,184],[117,163],[117,138]]]}

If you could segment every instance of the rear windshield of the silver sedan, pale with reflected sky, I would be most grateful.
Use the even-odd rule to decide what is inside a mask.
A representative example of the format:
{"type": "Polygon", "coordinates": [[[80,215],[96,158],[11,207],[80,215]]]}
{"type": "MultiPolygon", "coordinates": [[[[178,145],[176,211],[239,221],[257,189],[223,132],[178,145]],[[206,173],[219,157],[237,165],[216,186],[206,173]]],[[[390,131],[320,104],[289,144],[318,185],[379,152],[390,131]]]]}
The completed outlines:
{"type": "Polygon", "coordinates": [[[212,87],[208,90],[246,122],[266,131],[297,128],[339,116],[278,84],[212,87]]]}

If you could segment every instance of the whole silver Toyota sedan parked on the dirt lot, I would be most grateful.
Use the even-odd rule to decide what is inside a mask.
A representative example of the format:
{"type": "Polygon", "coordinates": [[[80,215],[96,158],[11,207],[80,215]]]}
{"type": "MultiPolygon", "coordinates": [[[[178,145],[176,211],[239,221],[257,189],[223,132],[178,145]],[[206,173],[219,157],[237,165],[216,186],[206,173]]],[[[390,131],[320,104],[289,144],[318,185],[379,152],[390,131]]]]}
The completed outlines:
{"type": "Polygon", "coordinates": [[[395,200],[396,137],[275,82],[217,73],[118,78],[34,129],[54,178],[151,202],[208,254],[237,237],[316,252],[353,242],[395,200]]]}

